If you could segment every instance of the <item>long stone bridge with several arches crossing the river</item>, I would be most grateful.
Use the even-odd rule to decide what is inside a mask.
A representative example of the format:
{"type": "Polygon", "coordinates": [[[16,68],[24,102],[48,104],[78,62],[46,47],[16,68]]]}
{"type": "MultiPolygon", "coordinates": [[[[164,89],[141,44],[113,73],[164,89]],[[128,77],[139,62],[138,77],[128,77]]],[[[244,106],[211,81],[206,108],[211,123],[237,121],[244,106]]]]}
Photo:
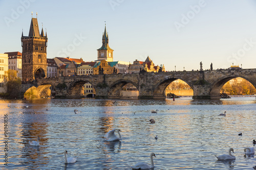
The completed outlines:
{"type": "Polygon", "coordinates": [[[256,69],[226,69],[58,77],[37,80],[37,88],[45,91],[51,86],[56,97],[77,98],[83,95],[83,84],[88,82],[95,88],[96,98],[120,99],[122,87],[132,83],[139,90],[139,99],[163,99],[165,88],[181,79],[194,90],[193,99],[220,99],[222,86],[237,77],[256,87],[256,69]]]}

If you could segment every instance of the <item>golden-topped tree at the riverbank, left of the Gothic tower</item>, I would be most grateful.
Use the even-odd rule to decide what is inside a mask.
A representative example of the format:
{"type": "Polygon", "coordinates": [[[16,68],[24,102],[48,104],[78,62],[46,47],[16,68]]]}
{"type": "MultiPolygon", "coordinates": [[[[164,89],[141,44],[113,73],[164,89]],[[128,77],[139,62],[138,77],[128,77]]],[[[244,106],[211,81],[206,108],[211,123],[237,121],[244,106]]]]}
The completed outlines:
{"type": "Polygon", "coordinates": [[[18,98],[20,88],[22,86],[22,80],[17,77],[16,70],[9,69],[5,71],[5,83],[7,85],[7,93],[10,98],[18,98]]]}

